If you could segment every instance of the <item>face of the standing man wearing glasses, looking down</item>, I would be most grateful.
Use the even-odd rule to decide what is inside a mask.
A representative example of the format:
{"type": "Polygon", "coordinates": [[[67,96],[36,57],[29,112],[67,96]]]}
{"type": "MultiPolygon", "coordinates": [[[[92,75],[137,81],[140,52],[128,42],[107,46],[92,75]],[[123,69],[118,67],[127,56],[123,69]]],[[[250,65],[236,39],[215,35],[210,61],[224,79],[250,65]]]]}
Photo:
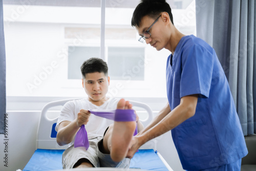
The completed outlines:
{"type": "MultiPolygon", "coordinates": [[[[140,27],[136,27],[139,35],[143,35],[143,33],[150,28],[150,26],[155,22],[156,18],[151,18],[149,16],[144,16],[141,19],[140,27]]],[[[163,17],[160,16],[157,22],[152,26],[149,30],[151,36],[150,38],[145,38],[146,44],[150,44],[152,47],[156,48],[156,50],[160,51],[165,47],[165,38],[164,33],[164,22],[163,17]]]]}

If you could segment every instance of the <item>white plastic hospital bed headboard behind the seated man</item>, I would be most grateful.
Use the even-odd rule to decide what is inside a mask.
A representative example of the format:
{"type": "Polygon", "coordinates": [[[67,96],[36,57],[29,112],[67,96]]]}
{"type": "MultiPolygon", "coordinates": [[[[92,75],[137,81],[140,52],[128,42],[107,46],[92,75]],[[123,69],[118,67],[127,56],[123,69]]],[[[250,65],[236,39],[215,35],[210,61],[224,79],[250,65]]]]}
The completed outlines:
{"type": "MultiPolygon", "coordinates": [[[[80,99],[80,98],[76,98],[80,99]]],[[[56,134],[55,125],[58,120],[58,117],[54,119],[50,119],[47,117],[47,112],[49,109],[55,106],[63,106],[66,102],[75,99],[65,99],[65,100],[57,100],[47,103],[44,108],[42,108],[40,120],[37,129],[37,139],[36,139],[36,149],[66,149],[68,145],[59,146],[56,142],[56,134]]],[[[140,113],[143,115],[146,114],[146,117],[143,119],[140,118],[140,121],[144,126],[146,126],[150,121],[153,119],[153,112],[145,103],[137,102],[129,100],[130,103],[133,104],[134,109],[136,110],[137,114],[140,116],[140,113]]],[[[156,140],[151,140],[145,143],[140,147],[140,149],[154,149],[156,151],[156,140]]]]}

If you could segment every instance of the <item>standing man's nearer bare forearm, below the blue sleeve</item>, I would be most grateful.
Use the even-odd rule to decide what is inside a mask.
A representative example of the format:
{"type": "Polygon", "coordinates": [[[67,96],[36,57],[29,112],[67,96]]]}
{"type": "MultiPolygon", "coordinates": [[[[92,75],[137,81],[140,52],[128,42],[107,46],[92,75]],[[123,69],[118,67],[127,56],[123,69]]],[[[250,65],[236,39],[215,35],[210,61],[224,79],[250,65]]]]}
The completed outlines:
{"type": "Polygon", "coordinates": [[[139,145],[174,129],[188,118],[194,116],[196,112],[197,99],[197,95],[195,95],[186,98],[184,103],[182,103],[181,100],[181,103],[159,123],[136,136],[139,139],[139,145]]]}

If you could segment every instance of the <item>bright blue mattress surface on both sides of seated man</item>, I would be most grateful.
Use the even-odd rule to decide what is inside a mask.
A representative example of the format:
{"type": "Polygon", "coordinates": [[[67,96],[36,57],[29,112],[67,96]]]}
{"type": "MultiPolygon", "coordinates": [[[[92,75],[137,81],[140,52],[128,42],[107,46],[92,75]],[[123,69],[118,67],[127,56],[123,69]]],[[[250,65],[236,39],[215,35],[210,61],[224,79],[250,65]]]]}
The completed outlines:
{"type": "MultiPolygon", "coordinates": [[[[63,151],[63,149],[36,149],[23,171],[62,169],[61,160],[63,151]]],[[[153,149],[139,149],[139,152],[131,160],[130,168],[168,171],[153,149]]]]}

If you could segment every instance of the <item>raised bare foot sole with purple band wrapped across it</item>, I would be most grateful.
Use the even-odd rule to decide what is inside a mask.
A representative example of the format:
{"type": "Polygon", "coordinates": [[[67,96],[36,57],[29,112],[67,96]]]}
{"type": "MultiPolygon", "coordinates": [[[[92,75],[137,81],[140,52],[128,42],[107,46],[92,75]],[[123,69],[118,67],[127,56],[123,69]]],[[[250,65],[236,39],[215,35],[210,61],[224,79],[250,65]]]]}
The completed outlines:
{"type": "MultiPolygon", "coordinates": [[[[117,109],[132,109],[132,104],[121,99],[117,104],[117,109]]],[[[110,151],[113,161],[119,162],[126,157],[135,129],[136,121],[114,122],[110,151]]]]}

